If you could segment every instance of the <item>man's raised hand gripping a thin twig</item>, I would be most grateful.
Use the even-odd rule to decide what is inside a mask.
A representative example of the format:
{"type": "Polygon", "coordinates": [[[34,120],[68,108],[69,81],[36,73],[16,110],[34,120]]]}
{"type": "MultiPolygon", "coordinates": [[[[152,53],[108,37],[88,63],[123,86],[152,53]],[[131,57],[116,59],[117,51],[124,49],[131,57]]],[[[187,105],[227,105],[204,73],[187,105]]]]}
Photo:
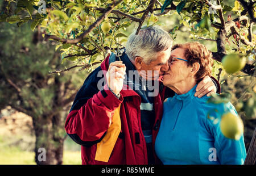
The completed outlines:
{"type": "Polygon", "coordinates": [[[106,73],[106,79],[109,88],[118,95],[123,87],[123,79],[125,79],[125,64],[122,61],[115,61],[110,63],[109,70],[106,73]]]}

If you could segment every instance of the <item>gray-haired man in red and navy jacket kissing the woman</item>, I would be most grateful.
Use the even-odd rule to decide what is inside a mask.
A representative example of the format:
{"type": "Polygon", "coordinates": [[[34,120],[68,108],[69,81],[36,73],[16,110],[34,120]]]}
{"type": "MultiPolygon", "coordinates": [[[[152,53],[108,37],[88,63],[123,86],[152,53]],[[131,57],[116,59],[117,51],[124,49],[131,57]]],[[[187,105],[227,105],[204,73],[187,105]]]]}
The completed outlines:
{"type": "MultiPolygon", "coordinates": [[[[144,28],[129,36],[121,56],[112,53],[85,79],[65,123],[81,145],[82,164],[156,163],[163,100],[175,94],[159,78],[169,69],[171,47],[166,31],[144,28]]],[[[197,90],[195,96],[210,95],[216,85],[205,77],[197,90]]]]}

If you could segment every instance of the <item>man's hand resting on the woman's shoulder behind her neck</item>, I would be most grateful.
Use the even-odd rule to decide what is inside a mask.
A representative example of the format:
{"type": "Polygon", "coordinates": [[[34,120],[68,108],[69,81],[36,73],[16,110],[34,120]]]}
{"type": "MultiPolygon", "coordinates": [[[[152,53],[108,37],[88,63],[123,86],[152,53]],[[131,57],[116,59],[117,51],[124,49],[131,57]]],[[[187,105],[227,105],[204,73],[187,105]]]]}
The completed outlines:
{"type": "Polygon", "coordinates": [[[204,77],[204,79],[198,83],[196,87],[195,97],[201,98],[205,94],[207,97],[216,93],[217,88],[210,77],[204,77]]]}

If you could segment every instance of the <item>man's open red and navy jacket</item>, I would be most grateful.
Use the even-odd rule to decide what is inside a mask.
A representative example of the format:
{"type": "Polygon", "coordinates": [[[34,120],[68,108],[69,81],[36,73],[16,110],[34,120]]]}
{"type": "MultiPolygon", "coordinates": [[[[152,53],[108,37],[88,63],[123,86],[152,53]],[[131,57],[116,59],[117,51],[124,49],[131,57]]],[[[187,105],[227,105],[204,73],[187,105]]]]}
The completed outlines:
{"type": "MultiPolygon", "coordinates": [[[[141,97],[134,90],[121,90],[121,97],[117,99],[108,90],[107,85],[104,86],[105,90],[98,90],[98,81],[103,76],[97,75],[101,70],[108,71],[108,68],[109,57],[86,78],[68,114],[65,130],[76,143],[82,145],[82,164],[145,165],[147,164],[147,149],[141,127],[141,97]],[[120,108],[121,132],[115,141],[110,158],[108,162],[95,160],[97,144],[104,139],[112,124],[114,111],[118,107],[120,108]]],[[[165,87],[162,84],[159,87],[161,93],[154,98],[153,146],[163,112],[165,87]]]]}

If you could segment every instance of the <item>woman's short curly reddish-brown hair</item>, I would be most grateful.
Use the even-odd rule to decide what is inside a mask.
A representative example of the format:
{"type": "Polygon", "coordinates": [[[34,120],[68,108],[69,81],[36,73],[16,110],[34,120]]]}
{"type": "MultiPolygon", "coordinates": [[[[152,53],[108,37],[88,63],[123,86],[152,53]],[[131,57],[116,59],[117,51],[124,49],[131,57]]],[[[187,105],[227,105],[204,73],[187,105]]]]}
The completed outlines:
{"type": "Polygon", "coordinates": [[[210,76],[213,65],[212,52],[210,52],[205,45],[196,41],[185,44],[176,44],[172,47],[172,50],[176,48],[185,49],[184,56],[188,60],[188,66],[193,66],[195,62],[200,64],[200,69],[195,75],[197,83],[205,76],[210,76]]]}

